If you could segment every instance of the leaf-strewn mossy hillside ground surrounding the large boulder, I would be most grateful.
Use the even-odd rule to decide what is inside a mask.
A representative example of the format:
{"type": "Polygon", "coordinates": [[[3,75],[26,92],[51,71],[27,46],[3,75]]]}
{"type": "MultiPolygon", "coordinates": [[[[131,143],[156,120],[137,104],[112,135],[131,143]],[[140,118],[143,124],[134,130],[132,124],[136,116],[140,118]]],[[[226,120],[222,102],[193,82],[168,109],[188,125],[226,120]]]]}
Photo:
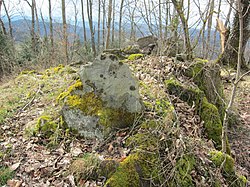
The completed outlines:
{"type": "MultiPolygon", "coordinates": [[[[218,165],[220,152],[205,133],[204,121],[195,107],[166,91],[164,80],[181,73],[184,64],[176,65],[167,57],[146,57],[126,63],[140,81],[146,110],[132,128],[119,129],[103,142],[79,137],[61,118],[62,105],[57,98],[78,80],[77,67],[23,72],[2,83],[0,185],[7,182],[8,186],[122,186],[119,180],[124,185],[129,173],[135,172],[139,178],[148,178],[140,185],[129,179],[129,185],[135,182],[134,186],[242,186],[245,181],[242,175],[249,177],[249,77],[240,85],[244,90],[240,93],[247,99],[240,99],[241,94],[237,97],[243,123],[239,131],[231,130],[229,136],[236,172],[230,156],[225,155],[228,167],[221,166],[221,162],[218,165]],[[140,157],[136,157],[140,153],[150,155],[145,157],[152,161],[150,169],[145,166],[141,168],[143,172],[125,170],[141,165],[140,157]],[[115,167],[109,168],[108,174],[96,176],[99,160],[105,163],[112,160],[115,167]],[[142,173],[144,176],[140,176],[142,173]],[[239,177],[230,181],[227,174],[239,177]]],[[[196,88],[186,77],[177,78],[196,88]]],[[[108,164],[104,165],[101,168],[106,169],[108,164]]]]}

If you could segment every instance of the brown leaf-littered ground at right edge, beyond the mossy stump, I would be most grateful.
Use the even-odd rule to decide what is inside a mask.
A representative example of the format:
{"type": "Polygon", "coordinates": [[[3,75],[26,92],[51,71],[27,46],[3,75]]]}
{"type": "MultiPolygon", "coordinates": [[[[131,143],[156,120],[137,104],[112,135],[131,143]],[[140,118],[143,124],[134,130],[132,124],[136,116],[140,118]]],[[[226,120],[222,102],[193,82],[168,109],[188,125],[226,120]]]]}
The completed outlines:
{"type": "MultiPolygon", "coordinates": [[[[231,96],[232,84],[224,84],[226,98],[231,96]]],[[[239,124],[229,128],[228,139],[238,167],[250,176],[250,76],[245,76],[237,87],[234,109],[239,113],[239,124]]]]}

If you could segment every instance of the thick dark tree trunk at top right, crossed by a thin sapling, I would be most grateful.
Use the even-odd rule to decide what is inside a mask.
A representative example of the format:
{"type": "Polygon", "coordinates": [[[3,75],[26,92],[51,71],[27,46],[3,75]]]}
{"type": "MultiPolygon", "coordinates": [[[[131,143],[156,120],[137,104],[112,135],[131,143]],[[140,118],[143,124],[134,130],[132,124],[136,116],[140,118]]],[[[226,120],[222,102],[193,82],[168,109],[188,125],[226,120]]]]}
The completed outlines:
{"type": "MultiPolygon", "coordinates": [[[[239,3],[238,3],[239,5],[239,3]]],[[[236,12],[234,16],[233,28],[229,34],[229,38],[225,45],[225,51],[219,59],[223,64],[228,64],[234,68],[237,67],[237,58],[239,51],[240,32],[243,31],[242,51],[245,51],[246,44],[250,37],[249,23],[250,23],[250,2],[249,0],[241,0],[242,5],[242,30],[240,30],[239,14],[236,12]]],[[[241,11],[241,10],[240,10],[241,11]]],[[[244,55],[241,55],[241,68],[247,69],[244,55]]]]}

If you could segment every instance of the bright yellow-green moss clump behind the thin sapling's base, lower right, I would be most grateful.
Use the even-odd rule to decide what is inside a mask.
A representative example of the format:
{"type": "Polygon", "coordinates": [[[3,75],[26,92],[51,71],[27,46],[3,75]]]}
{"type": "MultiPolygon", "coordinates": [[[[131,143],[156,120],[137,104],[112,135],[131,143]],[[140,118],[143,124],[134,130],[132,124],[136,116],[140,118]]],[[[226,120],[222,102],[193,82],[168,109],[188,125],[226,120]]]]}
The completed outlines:
{"type": "Polygon", "coordinates": [[[221,151],[211,151],[209,154],[216,167],[221,167],[223,164],[222,169],[224,174],[235,174],[234,159],[231,156],[221,151]]]}

